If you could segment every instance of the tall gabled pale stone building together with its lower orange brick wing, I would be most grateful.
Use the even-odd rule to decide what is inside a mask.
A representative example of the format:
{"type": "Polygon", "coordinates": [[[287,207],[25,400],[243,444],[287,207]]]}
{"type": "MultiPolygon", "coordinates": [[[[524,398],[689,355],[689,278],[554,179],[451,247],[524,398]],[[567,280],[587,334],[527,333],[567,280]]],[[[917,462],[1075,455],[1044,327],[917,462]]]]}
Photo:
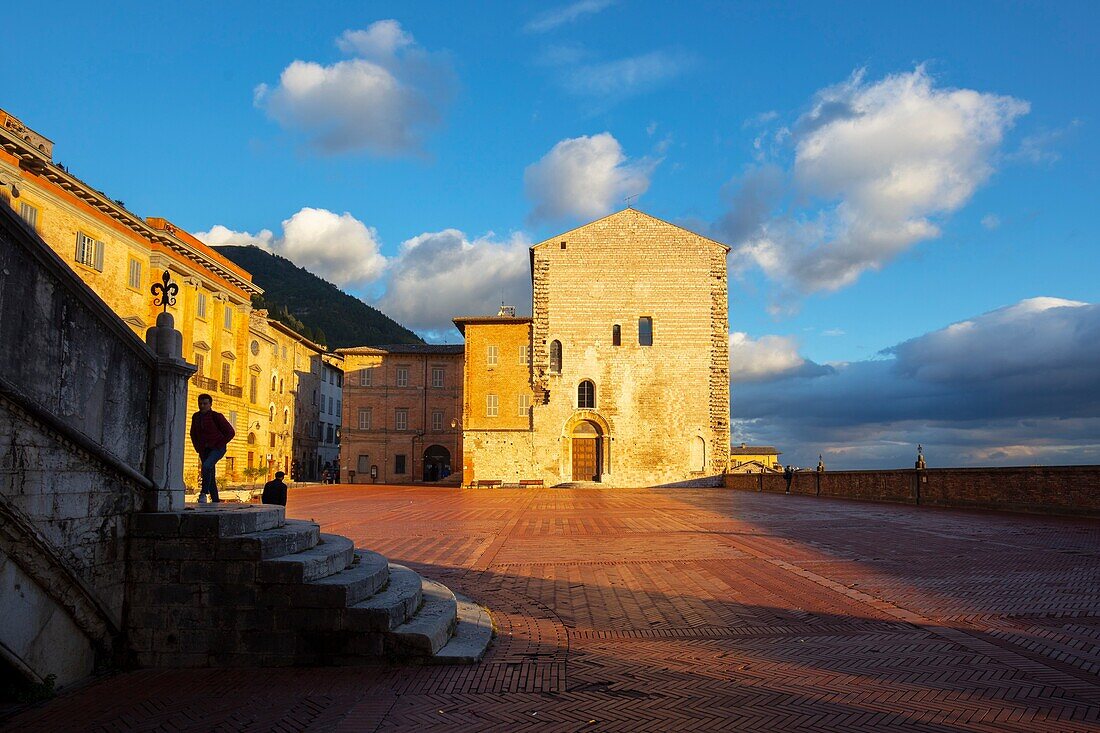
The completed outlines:
{"type": "Polygon", "coordinates": [[[729,248],[626,209],[531,248],[531,318],[455,318],[463,483],[721,482],[729,248]]]}

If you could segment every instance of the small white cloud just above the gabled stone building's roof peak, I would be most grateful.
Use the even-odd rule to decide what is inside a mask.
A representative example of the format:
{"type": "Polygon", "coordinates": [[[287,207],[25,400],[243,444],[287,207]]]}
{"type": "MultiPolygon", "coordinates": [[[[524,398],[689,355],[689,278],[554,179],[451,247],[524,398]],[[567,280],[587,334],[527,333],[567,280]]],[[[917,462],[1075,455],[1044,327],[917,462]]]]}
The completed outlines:
{"type": "Polygon", "coordinates": [[[524,172],[531,219],[594,219],[644,194],[657,162],[629,162],[609,133],[562,140],[524,172]]]}

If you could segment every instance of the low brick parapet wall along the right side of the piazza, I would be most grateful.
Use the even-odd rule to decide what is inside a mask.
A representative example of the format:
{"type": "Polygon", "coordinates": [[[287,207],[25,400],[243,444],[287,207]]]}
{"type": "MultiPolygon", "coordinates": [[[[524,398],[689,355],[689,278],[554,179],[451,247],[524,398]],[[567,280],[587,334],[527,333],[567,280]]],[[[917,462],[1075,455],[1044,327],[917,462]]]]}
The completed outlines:
{"type": "MultiPolygon", "coordinates": [[[[727,473],[726,488],[783,493],[781,473],[727,473]]],[[[792,494],[955,508],[1100,516],[1100,466],[800,471],[792,494]]]]}

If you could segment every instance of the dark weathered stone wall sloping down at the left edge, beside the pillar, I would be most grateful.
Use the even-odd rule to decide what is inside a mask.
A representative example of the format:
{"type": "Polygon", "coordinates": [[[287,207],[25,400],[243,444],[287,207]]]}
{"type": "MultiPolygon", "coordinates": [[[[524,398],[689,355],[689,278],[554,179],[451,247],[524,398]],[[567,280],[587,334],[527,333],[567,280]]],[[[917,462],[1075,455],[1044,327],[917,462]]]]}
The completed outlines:
{"type": "Polygon", "coordinates": [[[0,565],[34,581],[6,587],[0,613],[31,627],[0,641],[32,677],[88,675],[122,627],[153,382],[150,350],[0,206],[0,565]]]}

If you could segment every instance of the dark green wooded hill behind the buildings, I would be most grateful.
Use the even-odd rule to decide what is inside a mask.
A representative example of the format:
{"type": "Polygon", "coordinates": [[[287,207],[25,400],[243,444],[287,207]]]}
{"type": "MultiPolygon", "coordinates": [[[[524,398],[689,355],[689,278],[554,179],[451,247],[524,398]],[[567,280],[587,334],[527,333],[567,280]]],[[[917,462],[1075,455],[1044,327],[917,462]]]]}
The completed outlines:
{"type": "Polygon", "coordinates": [[[256,308],[302,336],[329,349],[383,343],[424,343],[424,339],[377,308],[352,297],[286,258],[258,247],[216,247],[252,273],[252,282],[264,288],[253,299],[256,308]]]}

